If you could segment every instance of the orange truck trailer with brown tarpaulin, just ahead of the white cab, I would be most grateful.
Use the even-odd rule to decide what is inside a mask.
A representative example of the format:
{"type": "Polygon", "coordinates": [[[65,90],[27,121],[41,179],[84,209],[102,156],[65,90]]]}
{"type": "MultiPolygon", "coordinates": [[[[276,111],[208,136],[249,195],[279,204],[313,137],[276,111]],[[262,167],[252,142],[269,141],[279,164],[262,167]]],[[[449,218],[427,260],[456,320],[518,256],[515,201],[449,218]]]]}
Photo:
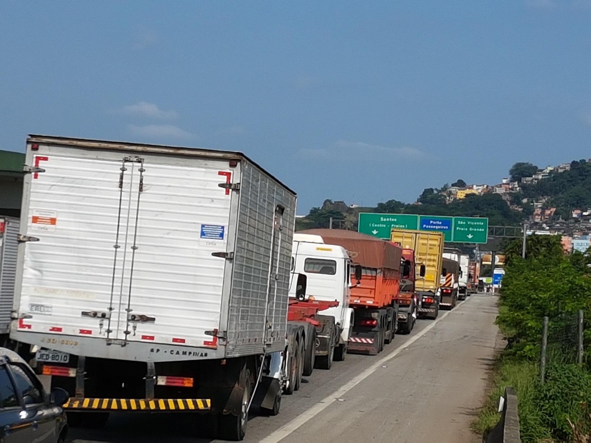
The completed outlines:
{"type": "Polygon", "coordinates": [[[352,262],[350,307],[353,328],[349,352],[375,355],[394,340],[398,328],[402,248],[384,240],[340,229],[299,232],[323,238],[327,245],[344,247],[352,262]]]}

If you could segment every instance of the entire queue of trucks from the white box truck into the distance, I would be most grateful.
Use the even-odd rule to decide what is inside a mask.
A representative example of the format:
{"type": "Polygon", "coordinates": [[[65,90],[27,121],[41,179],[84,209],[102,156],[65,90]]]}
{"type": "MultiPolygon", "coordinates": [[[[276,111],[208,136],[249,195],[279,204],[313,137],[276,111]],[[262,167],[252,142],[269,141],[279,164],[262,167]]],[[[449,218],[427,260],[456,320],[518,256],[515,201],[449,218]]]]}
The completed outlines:
{"type": "Polygon", "coordinates": [[[303,376],[475,292],[441,232],[294,233],[296,193],[239,152],[31,135],[25,158],[0,327],[70,426],[202,413],[240,440],[303,376]]]}

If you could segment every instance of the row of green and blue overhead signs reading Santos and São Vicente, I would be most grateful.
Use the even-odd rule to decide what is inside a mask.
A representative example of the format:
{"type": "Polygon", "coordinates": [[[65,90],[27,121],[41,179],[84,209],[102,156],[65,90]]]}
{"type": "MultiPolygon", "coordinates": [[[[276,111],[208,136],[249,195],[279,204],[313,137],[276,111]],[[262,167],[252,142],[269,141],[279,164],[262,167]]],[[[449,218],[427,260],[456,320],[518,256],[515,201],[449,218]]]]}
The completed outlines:
{"type": "Polygon", "coordinates": [[[443,232],[446,242],[486,243],[488,241],[488,219],[485,218],[365,212],[359,214],[358,231],[363,234],[389,240],[392,228],[443,232]]]}

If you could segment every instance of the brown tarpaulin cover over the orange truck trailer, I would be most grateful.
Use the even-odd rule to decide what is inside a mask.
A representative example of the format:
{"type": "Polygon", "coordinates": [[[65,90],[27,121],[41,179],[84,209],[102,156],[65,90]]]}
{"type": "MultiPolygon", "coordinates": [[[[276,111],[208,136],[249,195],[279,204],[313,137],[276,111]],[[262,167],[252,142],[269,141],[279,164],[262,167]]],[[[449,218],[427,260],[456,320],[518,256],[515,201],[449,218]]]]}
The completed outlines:
{"type": "Polygon", "coordinates": [[[385,240],[343,229],[306,229],[298,233],[319,235],[327,245],[344,247],[355,265],[400,271],[402,248],[385,240]]]}

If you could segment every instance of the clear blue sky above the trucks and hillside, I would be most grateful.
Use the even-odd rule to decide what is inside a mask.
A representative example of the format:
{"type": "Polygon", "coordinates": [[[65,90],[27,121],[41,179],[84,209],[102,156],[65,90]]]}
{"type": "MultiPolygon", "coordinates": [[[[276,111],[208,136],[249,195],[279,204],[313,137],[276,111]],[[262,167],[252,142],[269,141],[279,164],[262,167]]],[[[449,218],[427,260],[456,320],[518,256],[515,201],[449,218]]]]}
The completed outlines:
{"type": "Polygon", "coordinates": [[[492,184],[591,157],[591,1],[4,1],[28,133],[242,151],[299,213],[492,184]]]}

